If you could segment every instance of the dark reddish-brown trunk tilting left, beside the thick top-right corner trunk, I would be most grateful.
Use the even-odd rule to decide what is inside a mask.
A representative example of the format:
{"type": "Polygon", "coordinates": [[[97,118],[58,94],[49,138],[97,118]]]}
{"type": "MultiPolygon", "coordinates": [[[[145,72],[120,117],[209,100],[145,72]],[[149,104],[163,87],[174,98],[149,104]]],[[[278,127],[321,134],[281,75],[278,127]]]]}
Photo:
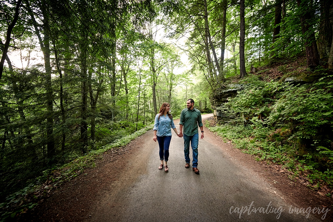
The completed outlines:
{"type": "Polygon", "coordinates": [[[308,6],[306,0],[297,0],[297,5],[303,12],[300,16],[302,33],[307,36],[306,39],[304,39],[306,62],[310,68],[316,68],[319,65],[319,54],[315,33],[312,31],[311,20],[314,19],[312,8],[308,6]]]}

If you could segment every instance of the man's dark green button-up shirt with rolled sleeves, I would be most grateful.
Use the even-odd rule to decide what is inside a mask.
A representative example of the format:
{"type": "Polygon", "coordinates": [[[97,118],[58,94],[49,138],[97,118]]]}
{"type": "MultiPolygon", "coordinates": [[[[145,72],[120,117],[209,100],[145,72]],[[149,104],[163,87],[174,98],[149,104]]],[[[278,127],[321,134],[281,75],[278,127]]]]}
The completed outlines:
{"type": "Polygon", "coordinates": [[[198,126],[201,127],[201,113],[197,109],[183,109],[180,113],[179,124],[183,125],[183,133],[187,136],[192,136],[198,133],[198,126]]]}

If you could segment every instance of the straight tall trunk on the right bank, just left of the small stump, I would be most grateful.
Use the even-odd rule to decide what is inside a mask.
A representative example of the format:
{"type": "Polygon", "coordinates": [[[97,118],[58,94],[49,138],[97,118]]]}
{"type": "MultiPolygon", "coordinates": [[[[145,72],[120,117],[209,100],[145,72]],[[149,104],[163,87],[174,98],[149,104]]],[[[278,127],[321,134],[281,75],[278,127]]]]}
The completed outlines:
{"type": "Polygon", "coordinates": [[[244,50],[245,50],[245,0],[240,0],[240,37],[239,37],[240,78],[244,78],[246,76],[244,50]]]}

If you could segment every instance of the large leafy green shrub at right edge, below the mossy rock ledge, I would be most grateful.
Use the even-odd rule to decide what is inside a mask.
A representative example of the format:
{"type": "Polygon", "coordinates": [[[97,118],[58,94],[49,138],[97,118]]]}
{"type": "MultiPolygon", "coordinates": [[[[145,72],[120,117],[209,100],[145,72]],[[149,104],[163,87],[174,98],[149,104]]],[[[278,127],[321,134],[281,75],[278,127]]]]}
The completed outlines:
{"type": "Polygon", "coordinates": [[[271,107],[269,124],[287,125],[292,132],[290,138],[309,140],[310,144],[313,140],[320,140],[321,145],[329,144],[333,125],[332,88],[333,81],[326,78],[311,85],[283,86],[283,93],[271,107]]]}

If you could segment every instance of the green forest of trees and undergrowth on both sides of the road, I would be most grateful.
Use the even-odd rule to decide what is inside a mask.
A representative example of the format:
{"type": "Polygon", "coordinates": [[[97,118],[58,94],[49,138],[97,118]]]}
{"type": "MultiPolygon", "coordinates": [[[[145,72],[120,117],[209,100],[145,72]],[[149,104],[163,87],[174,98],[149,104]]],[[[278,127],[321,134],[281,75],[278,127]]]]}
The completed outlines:
{"type": "Polygon", "coordinates": [[[189,98],[211,113],[230,83],[245,88],[219,109],[237,118],[211,130],[333,188],[331,1],[0,4],[1,199],[149,128],[164,102],[175,118],[189,98]],[[267,74],[274,65],[279,78],[267,74]]]}

